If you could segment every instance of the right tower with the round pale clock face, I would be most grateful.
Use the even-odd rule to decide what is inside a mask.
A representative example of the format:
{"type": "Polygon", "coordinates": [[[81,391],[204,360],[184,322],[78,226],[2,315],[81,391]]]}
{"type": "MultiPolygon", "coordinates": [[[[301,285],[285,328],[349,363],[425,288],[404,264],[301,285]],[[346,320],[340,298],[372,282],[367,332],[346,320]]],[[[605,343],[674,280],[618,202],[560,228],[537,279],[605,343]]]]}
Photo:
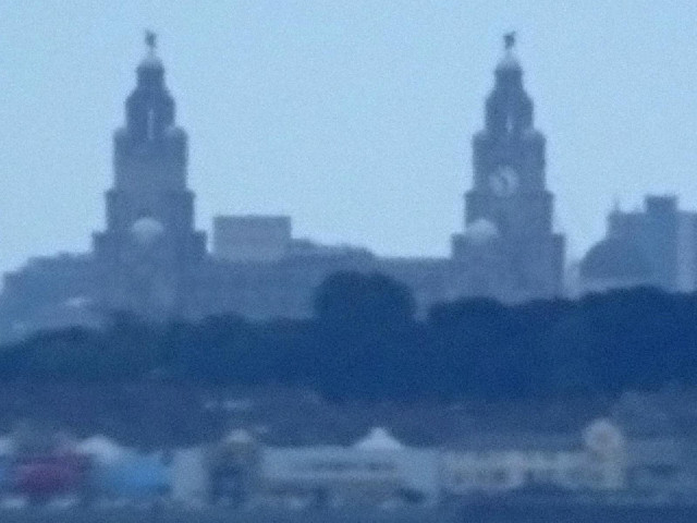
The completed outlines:
{"type": "Polygon", "coordinates": [[[552,230],[546,141],[534,126],[533,101],[514,54],[515,35],[505,35],[504,42],[494,87],[486,100],[485,129],[473,139],[474,180],[465,195],[465,234],[453,239],[453,258],[493,266],[478,268],[489,275],[481,293],[516,302],[562,293],[564,239],[552,230]],[[480,230],[481,223],[494,231],[486,242],[468,234],[480,230]]]}

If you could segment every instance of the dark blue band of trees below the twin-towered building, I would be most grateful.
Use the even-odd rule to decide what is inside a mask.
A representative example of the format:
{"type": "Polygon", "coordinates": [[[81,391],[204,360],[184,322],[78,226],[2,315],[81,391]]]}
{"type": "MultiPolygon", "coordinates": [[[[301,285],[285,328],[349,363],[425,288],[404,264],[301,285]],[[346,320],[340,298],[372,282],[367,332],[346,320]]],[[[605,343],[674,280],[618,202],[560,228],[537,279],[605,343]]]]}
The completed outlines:
{"type": "Polygon", "coordinates": [[[279,385],[332,400],[519,399],[697,385],[697,296],[653,289],[503,306],[440,304],[414,318],[400,283],[341,272],[315,317],[239,316],[44,332],[0,352],[0,379],[279,385]]]}

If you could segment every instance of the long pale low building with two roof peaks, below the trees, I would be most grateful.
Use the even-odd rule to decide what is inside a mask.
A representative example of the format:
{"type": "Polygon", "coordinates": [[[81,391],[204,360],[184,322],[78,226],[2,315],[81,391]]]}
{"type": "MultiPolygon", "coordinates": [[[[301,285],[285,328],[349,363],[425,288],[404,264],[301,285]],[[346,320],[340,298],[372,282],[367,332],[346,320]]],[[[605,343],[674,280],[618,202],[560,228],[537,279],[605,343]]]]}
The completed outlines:
{"type": "Polygon", "coordinates": [[[215,502],[280,507],[436,504],[439,453],[405,447],[382,428],[352,446],[261,445],[234,430],[211,446],[215,502]]]}

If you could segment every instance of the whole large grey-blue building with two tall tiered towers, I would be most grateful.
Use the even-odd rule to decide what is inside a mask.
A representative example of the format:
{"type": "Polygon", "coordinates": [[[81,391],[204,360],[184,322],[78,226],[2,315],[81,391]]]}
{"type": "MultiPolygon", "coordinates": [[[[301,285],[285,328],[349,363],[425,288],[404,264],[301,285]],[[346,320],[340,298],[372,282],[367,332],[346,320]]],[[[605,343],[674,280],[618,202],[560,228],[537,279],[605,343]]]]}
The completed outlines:
{"type": "Polygon", "coordinates": [[[113,312],[152,320],[307,317],[315,289],[340,270],[395,278],[411,288],[419,314],[463,296],[515,303],[562,293],[564,241],[552,232],[545,137],[533,126],[512,35],[496,69],[485,129],[473,143],[465,231],[453,236],[451,257],[435,258],[386,258],[294,239],[285,216],[218,217],[209,252],[194,223],[187,136],[176,125],[154,35],[147,44],[125,124],[113,137],[106,229],[94,234],[89,253],[29,260],[5,275],[1,338],[94,326],[113,312]]]}

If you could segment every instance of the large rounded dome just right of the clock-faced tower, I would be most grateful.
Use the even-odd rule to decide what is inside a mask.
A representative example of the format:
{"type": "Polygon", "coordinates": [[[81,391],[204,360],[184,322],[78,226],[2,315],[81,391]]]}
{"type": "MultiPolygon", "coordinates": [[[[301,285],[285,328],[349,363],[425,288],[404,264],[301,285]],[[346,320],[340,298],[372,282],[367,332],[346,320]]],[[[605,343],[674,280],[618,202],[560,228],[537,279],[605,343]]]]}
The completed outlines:
{"type": "Polygon", "coordinates": [[[597,243],[580,263],[583,278],[648,280],[652,272],[644,253],[631,241],[620,238],[597,243]]]}

